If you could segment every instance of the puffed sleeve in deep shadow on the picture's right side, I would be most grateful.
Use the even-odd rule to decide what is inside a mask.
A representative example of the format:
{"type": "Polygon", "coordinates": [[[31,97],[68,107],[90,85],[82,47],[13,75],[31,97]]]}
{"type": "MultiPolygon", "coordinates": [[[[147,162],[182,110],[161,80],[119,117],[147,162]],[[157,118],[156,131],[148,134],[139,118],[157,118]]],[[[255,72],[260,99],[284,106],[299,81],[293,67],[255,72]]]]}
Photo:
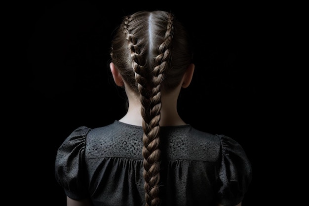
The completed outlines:
{"type": "Polygon", "coordinates": [[[222,163],[218,191],[220,203],[234,206],[243,200],[252,179],[252,167],[243,148],[232,138],[218,135],[222,145],[222,163]]]}

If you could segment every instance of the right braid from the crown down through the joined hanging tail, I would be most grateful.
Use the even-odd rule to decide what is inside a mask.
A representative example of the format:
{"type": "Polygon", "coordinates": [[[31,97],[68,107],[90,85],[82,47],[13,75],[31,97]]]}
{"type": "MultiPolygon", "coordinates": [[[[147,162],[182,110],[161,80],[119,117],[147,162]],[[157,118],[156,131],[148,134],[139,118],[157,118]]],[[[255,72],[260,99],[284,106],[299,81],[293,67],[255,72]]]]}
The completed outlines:
{"type": "MultiPolygon", "coordinates": [[[[161,89],[160,84],[164,80],[164,71],[167,67],[167,60],[170,58],[169,47],[171,45],[171,39],[173,35],[172,17],[170,16],[167,25],[167,31],[164,35],[164,41],[158,45],[158,55],[154,58],[154,70],[152,77],[152,95],[150,102],[150,113],[147,110],[142,110],[144,118],[143,128],[144,147],[142,154],[144,156],[144,179],[145,179],[145,199],[146,206],[159,205],[159,181],[160,181],[160,155],[159,149],[159,133],[160,133],[160,111],[161,111],[161,89]],[[150,116],[149,116],[150,115],[150,116]],[[150,121],[149,121],[150,120],[150,121]]],[[[141,93],[142,94],[142,93],[141,93]]],[[[144,98],[141,98],[143,102],[144,98]]],[[[147,101],[148,103],[148,101],[147,101]]],[[[148,106],[148,105],[147,105],[148,106]]],[[[145,107],[144,107],[145,108],[145,107]]]]}

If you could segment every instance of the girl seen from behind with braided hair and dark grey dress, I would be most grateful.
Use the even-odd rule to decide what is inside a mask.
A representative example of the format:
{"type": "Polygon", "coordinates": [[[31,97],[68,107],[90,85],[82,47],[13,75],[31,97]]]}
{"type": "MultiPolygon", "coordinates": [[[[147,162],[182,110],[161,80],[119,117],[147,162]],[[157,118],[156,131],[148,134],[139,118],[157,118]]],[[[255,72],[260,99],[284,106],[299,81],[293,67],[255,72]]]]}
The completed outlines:
{"type": "Polygon", "coordinates": [[[194,129],[177,112],[192,57],[172,13],[123,18],[110,69],[127,113],[110,125],[81,126],[60,146],[55,174],[68,206],[241,206],[252,178],[242,147],[194,129]]]}

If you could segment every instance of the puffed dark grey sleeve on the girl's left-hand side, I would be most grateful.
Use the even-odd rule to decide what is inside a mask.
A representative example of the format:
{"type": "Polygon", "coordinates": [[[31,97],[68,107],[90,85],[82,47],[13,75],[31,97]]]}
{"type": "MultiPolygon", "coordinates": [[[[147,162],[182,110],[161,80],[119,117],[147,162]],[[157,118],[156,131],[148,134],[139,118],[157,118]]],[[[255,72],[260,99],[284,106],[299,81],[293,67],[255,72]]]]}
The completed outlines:
{"type": "Polygon", "coordinates": [[[85,185],[84,153],[86,135],[90,128],[75,129],[58,148],[55,160],[55,177],[68,197],[81,200],[87,196],[85,185]]]}

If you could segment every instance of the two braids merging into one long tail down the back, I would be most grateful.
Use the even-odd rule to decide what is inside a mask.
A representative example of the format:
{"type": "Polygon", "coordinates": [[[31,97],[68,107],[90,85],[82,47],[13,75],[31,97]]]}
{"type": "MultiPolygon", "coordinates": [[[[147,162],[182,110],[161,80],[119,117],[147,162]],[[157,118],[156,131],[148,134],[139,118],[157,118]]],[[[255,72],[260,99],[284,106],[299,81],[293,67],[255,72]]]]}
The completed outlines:
{"type": "Polygon", "coordinates": [[[152,79],[146,73],[144,68],[144,59],[140,55],[140,49],[136,45],[136,38],[131,35],[127,29],[129,18],[123,21],[123,31],[128,41],[128,47],[131,50],[132,68],[135,73],[136,82],[140,92],[140,100],[142,103],[141,114],[143,117],[143,143],[144,147],[142,154],[144,157],[144,172],[145,179],[145,200],[146,206],[156,206],[160,203],[159,200],[159,180],[160,180],[160,149],[159,149],[159,121],[161,110],[161,91],[160,83],[164,79],[164,70],[166,68],[166,60],[169,58],[169,46],[171,44],[172,34],[172,18],[167,25],[165,33],[165,41],[157,47],[158,55],[154,58],[154,67],[152,79]],[[148,77],[148,78],[147,78],[148,77]],[[153,87],[153,88],[151,88],[153,87]]]}

